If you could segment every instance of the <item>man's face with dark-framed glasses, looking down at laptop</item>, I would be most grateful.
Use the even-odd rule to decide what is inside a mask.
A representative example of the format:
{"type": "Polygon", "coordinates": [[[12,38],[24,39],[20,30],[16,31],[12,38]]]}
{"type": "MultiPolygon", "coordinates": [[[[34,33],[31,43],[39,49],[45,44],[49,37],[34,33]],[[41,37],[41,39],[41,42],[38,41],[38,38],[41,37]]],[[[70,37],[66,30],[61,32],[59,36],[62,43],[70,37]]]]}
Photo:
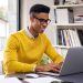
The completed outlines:
{"type": "Polygon", "coordinates": [[[31,18],[31,25],[37,33],[44,32],[45,28],[48,27],[49,13],[38,13],[31,18]]]}

